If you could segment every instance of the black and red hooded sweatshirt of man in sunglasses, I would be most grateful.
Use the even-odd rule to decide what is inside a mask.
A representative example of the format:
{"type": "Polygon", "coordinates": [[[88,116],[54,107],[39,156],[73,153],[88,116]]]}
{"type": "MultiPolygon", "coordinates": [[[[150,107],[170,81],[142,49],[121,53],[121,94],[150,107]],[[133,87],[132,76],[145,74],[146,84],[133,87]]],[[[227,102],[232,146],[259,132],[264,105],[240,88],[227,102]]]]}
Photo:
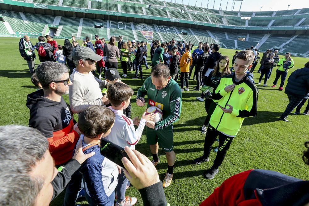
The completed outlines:
{"type": "Polygon", "coordinates": [[[41,89],[27,96],[27,107],[30,109],[29,126],[47,138],[55,164],[69,161],[79,135],[73,129],[73,119],[64,99],[61,97],[60,102],[47,99],[41,89]]]}

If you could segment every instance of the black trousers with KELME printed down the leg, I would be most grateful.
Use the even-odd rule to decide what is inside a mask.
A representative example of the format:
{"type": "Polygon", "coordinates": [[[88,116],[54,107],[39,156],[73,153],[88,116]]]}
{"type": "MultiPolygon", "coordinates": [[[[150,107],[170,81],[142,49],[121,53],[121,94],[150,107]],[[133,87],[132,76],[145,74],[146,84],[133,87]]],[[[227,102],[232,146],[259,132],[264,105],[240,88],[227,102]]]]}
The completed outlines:
{"type": "Polygon", "coordinates": [[[217,152],[217,156],[214,160],[214,164],[212,166],[213,169],[218,169],[218,167],[221,166],[225,158],[226,152],[230,148],[230,145],[234,138],[234,137],[228,137],[222,134],[221,132],[216,130],[214,127],[209,125],[206,136],[205,136],[203,158],[209,158],[212,145],[214,144],[214,141],[216,141],[218,136],[219,136],[219,149],[217,152]]]}

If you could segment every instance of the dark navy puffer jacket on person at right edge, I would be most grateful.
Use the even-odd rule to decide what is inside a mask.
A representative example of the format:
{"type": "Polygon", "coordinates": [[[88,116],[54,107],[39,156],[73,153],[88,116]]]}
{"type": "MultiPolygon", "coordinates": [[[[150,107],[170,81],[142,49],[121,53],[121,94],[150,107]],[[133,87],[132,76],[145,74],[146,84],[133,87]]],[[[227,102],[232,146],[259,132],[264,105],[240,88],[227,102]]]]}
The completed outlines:
{"type": "Polygon", "coordinates": [[[309,95],[309,68],[296,69],[288,78],[285,93],[296,98],[309,95]]]}

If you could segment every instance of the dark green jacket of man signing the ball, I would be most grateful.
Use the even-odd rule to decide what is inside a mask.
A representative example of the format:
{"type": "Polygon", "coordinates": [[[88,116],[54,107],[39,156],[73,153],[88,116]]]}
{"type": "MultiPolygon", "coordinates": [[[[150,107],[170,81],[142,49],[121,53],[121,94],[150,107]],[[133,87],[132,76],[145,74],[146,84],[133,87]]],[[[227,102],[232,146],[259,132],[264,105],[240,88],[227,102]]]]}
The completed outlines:
{"type": "Polygon", "coordinates": [[[181,112],[181,90],[172,78],[167,86],[157,90],[148,77],[143,86],[138,89],[137,96],[148,97],[148,107],[156,106],[163,111],[163,120],[155,124],[155,130],[164,129],[178,121],[181,112]]]}

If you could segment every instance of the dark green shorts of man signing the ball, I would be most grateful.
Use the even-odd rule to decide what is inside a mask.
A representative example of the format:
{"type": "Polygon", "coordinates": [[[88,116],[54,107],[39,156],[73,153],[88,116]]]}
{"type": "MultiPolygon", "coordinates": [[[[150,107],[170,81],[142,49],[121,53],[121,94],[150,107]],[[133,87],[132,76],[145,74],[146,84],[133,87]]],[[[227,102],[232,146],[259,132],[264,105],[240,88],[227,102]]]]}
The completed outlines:
{"type": "Polygon", "coordinates": [[[173,126],[166,127],[164,129],[158,129],[155,131],[149,127],[146,127],[147,144],[155,145],[157,142],[162,147],[163,151],[173,151],[173,126]]]}

